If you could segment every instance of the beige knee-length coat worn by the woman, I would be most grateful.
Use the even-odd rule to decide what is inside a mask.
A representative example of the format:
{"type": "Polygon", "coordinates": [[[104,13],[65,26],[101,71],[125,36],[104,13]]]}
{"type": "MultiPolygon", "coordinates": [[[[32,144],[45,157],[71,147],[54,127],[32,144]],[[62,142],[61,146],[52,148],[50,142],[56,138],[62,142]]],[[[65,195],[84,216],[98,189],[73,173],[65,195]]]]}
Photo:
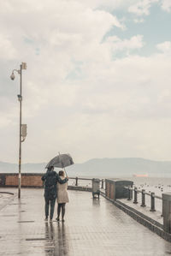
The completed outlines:
{"type": "MultiPolygon", "coordinates": [[[[65,179],[65,177],[60,176],[60,178],[63,180],[65,179]]],[[[64,183],[64,184],[60,184],[59,182],[57,182],[57,203],[58,204],[62,204],[62,203],[68,203],[69,199],[68,199],[68,182],[64,183]]]]}

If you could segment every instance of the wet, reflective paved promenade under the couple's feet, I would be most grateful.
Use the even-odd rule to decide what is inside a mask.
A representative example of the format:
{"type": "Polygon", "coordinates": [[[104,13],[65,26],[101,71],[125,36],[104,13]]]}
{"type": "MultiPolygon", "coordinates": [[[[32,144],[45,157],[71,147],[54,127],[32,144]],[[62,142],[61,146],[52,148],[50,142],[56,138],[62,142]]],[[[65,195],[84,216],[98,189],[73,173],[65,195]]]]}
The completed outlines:
{"type": "MultiPolygon", "coordinates": [[[[5,190],[17,192],[12,188],[0,188],[0,191],[5,190]]],[[[43,189],[23,188],[21,200],[3,194],[0,197],[0,206],[3,205],[0,208],[0,255],[171,254],[169,242],[134,221],[107,199],[92,199],[89,192],[68,193],[70,202],[66,206],[65,223],[44,222],[43,189]]]]}

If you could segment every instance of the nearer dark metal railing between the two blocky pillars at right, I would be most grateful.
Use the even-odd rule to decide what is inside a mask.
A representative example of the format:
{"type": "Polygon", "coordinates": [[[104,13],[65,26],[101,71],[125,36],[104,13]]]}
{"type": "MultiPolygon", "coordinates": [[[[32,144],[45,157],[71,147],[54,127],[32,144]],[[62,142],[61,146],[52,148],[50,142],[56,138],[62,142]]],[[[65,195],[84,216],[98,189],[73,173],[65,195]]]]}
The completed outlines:
{"type": "MultiPolygon", "coordinates": [[[[156,211],[155,208],[155,199],[161,199],[161,196],[157,196],[154,192],[147,193],[144,189],[139,190],[138,188],[124,187],[128,189],[128,198],[127,200],[133,199],[133,204],[138,204],[138,193],[141,193],[141,206],[145,207],[145,195],[150,196],[150,211],[156,211]]],[[[162,215],[161,215],[162,216],[162,215]]]]}

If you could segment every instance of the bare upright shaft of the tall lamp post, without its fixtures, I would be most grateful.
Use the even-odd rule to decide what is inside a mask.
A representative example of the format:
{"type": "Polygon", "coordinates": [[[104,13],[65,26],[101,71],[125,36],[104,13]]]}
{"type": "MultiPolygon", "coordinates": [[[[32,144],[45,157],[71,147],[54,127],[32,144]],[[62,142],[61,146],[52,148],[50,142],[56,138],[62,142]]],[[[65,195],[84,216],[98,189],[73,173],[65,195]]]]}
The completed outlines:
{"type": "Polygon", "coordinates": [[[21,114],[22,114],[22,65],[21,65],[21,100],[20,102],[20,140],[19,140],[19,182],[18,182],[18,198],[21,198],[21,114]]]}

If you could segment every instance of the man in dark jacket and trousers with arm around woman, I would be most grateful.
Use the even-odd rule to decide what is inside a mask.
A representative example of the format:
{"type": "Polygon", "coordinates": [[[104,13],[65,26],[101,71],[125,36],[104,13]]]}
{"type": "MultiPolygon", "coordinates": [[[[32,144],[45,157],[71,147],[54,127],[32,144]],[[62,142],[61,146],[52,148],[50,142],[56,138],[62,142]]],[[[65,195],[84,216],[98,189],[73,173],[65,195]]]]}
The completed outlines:
{"type": "Polygon", "coordinates": [[[61,184],[68,182],[68,177],[62,180],[54,171],[54,166],[50,166],[47,172],[42,176],[44,182],[44,200],[45,200],[45,221],[48,221],[50,206],[50,222],[52,221],[56,204],[56,182],[61,184]]]}

